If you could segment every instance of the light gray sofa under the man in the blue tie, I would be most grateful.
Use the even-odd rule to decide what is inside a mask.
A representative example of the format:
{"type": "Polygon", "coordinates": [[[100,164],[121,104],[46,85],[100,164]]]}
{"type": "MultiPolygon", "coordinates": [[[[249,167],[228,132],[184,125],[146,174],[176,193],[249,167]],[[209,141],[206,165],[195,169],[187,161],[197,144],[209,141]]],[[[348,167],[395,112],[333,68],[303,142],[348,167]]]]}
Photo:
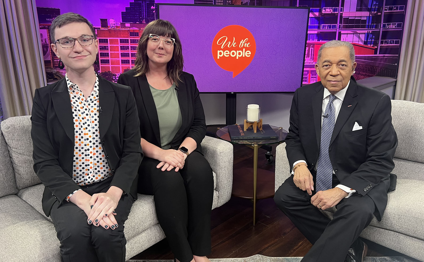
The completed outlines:
{"type": "MultiPolygon", "coordinates": [[[[396,149],[396,190],[388,194],[381,222],[365,228],[361,237],[424,261],[424,104],[392,100],[392,123],[399,145],[396,149]]],[[[285,143],[276,148],[275,190],[290,176],[285,143]]],[[[332,217],[335,208],[324,211],[332,217]]]]}

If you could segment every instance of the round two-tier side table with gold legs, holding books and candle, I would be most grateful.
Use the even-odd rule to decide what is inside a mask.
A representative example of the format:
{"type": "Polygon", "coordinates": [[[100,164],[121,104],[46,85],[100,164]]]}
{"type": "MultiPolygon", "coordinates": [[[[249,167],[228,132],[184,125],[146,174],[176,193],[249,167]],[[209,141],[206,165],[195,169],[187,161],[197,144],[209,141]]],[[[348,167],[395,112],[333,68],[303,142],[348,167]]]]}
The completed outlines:
{"type": "Polygon", "coordinates": [[[275,173],[258,169],[258,148],[263,145],[281,144],[286,138],[287,131],[282,127],[271,128],[276,132],[278,138],[274,139],[252,139],[252,140],[231,140],[228,132],[228,126],[221,127],[217,130],[218,138],[229,141],[233,144],[242,144],[253,148],[253,168],[244,167],[233,170],[233,189],[234,197],[241,197],[253,200],[253,225],[256,223],[256,201],[274,196],[275,173]],[[253,173],[253,176],[250,174],[253,173]],[[258,176],[259,175],[259,176],[258,176]],[[253,183],[253,191],[249,189],[248,184],[253,183]]]}

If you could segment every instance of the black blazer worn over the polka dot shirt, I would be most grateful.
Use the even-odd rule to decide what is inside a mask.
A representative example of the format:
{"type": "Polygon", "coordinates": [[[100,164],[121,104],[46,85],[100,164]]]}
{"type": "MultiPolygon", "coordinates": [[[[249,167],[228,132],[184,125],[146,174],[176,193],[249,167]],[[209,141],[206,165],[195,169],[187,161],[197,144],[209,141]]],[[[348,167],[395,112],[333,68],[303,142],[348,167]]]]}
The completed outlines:
{"type": "MultiPolygon", "coordinates": [[[[137,199],[140,146],[139,118],[131,88],[98,76],[101,144],[117,186],[137,199]]],[[[74,124],[65,79],[35,90],[31,116],[34,171],[45,186],[42,206],[47,216],[55,201],[79,189],[72,179],[74,124]]]]}

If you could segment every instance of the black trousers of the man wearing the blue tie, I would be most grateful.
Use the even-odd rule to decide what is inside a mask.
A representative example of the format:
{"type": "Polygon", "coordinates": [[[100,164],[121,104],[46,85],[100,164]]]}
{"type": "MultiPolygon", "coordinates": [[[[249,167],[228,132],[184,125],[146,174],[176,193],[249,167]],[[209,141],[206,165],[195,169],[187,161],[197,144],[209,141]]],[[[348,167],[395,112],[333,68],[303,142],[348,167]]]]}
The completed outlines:
{"type": "Polygon", "coordinates": [[[349,247],[371,222],[374,201],[368,195],[352,194],[336,205],[337,211],[330,220],[311,204],[311,197],[296,187],[293,175],[282,183],[274,196],[278,208],[313,244],[301,261],[343,262],[349,247]]]}

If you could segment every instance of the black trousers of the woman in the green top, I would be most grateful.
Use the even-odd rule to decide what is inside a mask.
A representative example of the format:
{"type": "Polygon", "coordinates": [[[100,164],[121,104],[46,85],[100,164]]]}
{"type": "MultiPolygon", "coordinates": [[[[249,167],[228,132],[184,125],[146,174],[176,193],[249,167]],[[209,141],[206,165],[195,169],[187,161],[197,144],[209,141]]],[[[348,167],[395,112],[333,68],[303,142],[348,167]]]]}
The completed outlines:
{"type": "Polygon", "coordinates": [[[138,190],[153,195],[171,251],[181,262],[191,261],[193,255],[210,254],[213,175],[208,161],[194,151],[178,172],[157,169],[159,162],[143,158],[138,190]]]}

